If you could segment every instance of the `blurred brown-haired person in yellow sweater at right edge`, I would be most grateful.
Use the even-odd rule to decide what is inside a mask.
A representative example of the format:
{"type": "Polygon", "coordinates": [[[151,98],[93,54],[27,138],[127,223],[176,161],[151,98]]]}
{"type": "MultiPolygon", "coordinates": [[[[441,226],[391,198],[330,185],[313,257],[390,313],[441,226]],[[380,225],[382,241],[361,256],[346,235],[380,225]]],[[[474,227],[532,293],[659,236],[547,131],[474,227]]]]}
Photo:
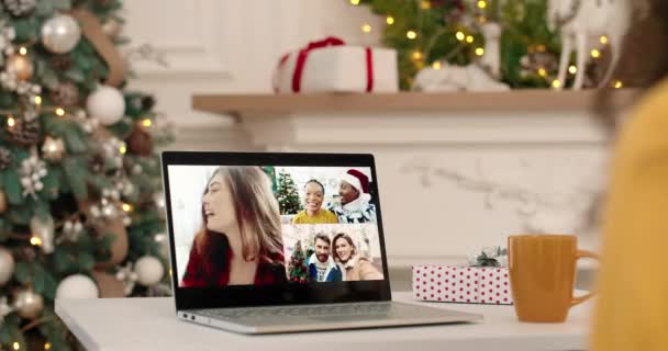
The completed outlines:
{"type": "Polygon", "coordinates": [[[617,95],[601,92],[615,150],[602,216],[594,351],[668,350],[668,1],[627,1],[650,9],[625,41],[622,63],[633,65],[617,71],[641,88],[627,121],[612,113],[617,95]]]}

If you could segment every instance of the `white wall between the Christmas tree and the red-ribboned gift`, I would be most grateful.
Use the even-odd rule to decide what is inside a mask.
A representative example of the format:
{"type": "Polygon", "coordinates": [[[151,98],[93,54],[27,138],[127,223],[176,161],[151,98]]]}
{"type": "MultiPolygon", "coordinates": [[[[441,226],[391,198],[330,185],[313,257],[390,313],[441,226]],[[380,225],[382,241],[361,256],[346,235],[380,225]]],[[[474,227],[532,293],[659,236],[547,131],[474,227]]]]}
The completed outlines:
{"type": "Polygon", "coordinates": [[[309,41],[336,35],[378,43],[383,19],[344,0],[125,1],[124,34],[132,47],[152,44],[169,63],[134,65],[131,88],[152,92],[157,109],[176,124],[171,148],[247,148],[231,117],[194,112],[193,93],[270,92],[278,58],[309,41]],[[372,31],[365,35],[361,23],[372,31]]]}

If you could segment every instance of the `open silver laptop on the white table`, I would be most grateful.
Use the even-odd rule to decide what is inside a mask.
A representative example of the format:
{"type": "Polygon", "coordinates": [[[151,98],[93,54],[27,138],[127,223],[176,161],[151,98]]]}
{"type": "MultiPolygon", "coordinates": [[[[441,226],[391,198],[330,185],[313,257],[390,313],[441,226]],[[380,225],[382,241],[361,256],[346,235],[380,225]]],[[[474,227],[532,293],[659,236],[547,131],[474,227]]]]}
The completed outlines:
{"type": "Polygon", "coordinates": [[[162,159],[178,319],[277,333],[482,318],[392,302],[371,155],[162,159]]]}

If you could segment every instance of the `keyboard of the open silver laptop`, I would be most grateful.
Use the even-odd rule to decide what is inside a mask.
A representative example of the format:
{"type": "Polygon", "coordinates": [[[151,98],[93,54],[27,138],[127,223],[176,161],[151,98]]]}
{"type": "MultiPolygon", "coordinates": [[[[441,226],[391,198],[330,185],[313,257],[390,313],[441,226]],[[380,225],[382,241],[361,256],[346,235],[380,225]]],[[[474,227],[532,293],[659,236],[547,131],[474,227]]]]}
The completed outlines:
{"type": "Polygon", "coordinates": [[[335,317],[335,316],[374,316],[388,315],[392,312],[391,303],[356,303],[334,305],[299,305],[252,308],[213,308],[199,309],[193,313],[222,319],[264,318],[281,316],[335,317]]]}

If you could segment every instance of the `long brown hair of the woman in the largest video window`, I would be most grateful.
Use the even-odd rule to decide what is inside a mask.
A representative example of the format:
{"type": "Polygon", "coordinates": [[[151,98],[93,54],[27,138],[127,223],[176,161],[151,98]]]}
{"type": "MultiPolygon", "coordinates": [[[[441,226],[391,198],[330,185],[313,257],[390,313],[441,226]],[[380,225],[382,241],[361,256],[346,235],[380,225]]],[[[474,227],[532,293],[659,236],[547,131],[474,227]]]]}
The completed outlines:
{"type": "MultiPolygon", "coordinates": [[[[267,174],[258,167],[220,167],[207,184],[216,174],[230,186],[242,235],[243,258],[258,258],[260,263],[285,263],[280,213],[267,174]],[[257,235],[250,236],[249,231],[257,235]]],[[[208,191],[207,188],[204,194],[208,191]]],[[[196,244],[204,262],[210,263],[207,274],[214,278],[229,269],[230,244],[225,235],[207,228],[203,204],[201,212],[203,227],[196,236],[196,244]]]]}

